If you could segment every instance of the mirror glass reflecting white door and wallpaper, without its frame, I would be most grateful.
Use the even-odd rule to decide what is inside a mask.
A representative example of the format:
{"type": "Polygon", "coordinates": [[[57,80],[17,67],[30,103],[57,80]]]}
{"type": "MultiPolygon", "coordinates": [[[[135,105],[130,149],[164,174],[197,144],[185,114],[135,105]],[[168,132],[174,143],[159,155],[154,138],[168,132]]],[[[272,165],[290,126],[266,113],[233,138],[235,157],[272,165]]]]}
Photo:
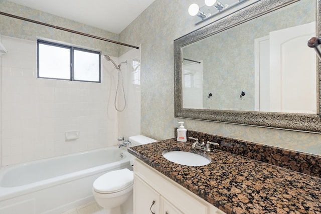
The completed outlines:
{"type": "Polygon", "coordinates": [[[301,0],[184,46],[183,108],[316,114],[314,12],[301,0]]]}

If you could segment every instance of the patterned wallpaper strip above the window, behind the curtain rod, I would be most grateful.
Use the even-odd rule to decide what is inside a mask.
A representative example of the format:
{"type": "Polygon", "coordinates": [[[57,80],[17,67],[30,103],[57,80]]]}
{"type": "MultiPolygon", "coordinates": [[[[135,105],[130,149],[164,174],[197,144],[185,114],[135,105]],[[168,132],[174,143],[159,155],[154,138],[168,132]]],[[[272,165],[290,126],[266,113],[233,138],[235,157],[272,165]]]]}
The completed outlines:
{"type": "MultiPolygon", "coordinates": [[[[98,37],[118,41],[118,35],[110,33],[98,28],[77,23],[61,17],[53,16],[31,8],[0,0],[0,11],[27,19],[32,19],[38,22],[71,29],[74,31],[95,35],[98,37]]],[[[56,41],[76,44],[83,47],[90,47],[96,50],[101,50],[103,54],[118,57],[119,45],[107,43],[102,40],[85,37],[66,31],[21,21],[18,19],[0,15],[0,35],[36,41],[38,38],[52,39],[56,41]]]]}

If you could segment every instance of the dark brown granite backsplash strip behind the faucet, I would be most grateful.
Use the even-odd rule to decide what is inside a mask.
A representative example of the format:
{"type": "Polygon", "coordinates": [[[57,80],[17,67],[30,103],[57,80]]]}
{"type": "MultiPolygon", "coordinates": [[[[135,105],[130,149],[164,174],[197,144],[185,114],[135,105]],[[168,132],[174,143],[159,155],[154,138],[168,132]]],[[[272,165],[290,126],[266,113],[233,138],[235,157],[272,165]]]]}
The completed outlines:
{"type": "MultiPolygon", "coordinates": [[[[175,128],[175,138],[177,138],[175,128]]],[[[315,177],[321,177],[321,157],[318,155],[267,146],[263,144],[221,137],[203,132],[188,130],[187,137],[198,138],[200,142],[219,143],[216,149],[241,155],[254,160],[280,166],[315,177]]],[[[188,141],[192,141],[188,139],[188,141]]]]}

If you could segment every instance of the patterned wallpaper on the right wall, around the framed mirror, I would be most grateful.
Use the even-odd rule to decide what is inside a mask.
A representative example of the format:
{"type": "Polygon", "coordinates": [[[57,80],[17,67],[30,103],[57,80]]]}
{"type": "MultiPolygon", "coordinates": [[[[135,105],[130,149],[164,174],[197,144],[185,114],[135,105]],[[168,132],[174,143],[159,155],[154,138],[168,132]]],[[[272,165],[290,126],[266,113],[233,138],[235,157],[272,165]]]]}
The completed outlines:
{"type": "Polygon", "coordinates": [[[121,42],[142,45],[141,134],[172,138],[183,120],[187,129],[321,155],[320,134],[174,117],[174,40],[214,21],[195,26],[187,12],[192,3],[156,0],[119,35],[121,42]]]}

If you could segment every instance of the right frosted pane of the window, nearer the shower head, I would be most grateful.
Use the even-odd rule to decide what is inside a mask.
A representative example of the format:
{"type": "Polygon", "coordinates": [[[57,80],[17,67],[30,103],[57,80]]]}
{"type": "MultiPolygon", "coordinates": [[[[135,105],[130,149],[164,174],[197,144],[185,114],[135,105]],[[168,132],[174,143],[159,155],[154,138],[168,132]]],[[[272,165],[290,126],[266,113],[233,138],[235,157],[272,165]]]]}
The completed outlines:
{"type": "Polygon", "coordinates": [[[74,79],[99,82],[99,54],[75,50],[74,79]]]}

